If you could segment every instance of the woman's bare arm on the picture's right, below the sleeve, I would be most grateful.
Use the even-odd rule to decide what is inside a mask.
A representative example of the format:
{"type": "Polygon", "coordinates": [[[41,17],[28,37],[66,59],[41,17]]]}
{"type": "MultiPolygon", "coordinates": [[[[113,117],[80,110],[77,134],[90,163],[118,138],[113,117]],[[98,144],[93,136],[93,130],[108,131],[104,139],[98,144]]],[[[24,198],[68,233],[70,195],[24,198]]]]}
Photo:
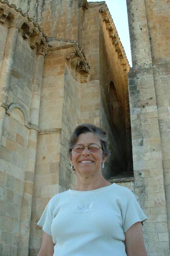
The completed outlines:
{"type": "Polygon", "coordinates": [[[142,223],[133,224],[125,233],[125,246],[127,256],[147,256],[143,241],[142,223]]]}

